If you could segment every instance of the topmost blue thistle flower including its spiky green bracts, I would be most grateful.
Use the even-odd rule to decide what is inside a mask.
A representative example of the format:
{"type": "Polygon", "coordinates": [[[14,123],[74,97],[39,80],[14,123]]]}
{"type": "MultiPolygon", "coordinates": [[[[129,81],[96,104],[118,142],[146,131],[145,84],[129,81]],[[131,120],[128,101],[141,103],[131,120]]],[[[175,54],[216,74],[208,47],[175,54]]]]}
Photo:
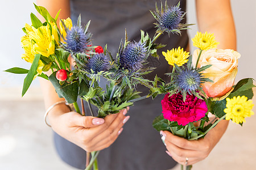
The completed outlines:
{"type": "Polygon", "coordinates": [[[180,23],[183,20],[185,12],[181,11],[180,2],[176,6],[168,6],[167,1],[163,7],[161,2],[161,8],[158,9],[158,6],[155,4],[156,11],[151,12],[151,14],[155,17],[157,23],[156,28],[158,30],[156,33],[167,32],[170,33],[179,33],[181,34],[181,30],[188,29],[188,25],[191,24],[182,24],[180,23]]]}

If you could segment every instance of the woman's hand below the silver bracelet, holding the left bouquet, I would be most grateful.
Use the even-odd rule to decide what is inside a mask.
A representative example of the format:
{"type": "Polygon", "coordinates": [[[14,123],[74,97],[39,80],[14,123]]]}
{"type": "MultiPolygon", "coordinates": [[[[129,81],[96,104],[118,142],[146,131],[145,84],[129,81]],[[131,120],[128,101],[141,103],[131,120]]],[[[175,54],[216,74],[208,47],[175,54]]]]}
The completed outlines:
{"type": "Polygon", "coordinates": [[[102,150],[112,145],[122,132],[122,126],[130,118],[125,116],[129,108],[105,118],[98,118],[81,116],[77,112],[63,113],[58,107],[61,105],[48,114],[52,129],[87,152],[102,150]]]}

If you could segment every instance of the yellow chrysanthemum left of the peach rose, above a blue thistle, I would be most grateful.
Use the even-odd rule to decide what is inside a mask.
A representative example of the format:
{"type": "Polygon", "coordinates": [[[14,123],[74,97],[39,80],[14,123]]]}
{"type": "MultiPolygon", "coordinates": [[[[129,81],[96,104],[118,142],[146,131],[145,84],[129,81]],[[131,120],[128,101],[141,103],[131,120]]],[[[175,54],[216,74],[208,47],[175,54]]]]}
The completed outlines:
{"type": "Polygon", "coordinates": [[[188,62],[189,52],[183,50],[183,48],[173,48],[171,50],[167,50],[166,52],[162,52],[163,56],[166,57],[166,61],[168,61],[169,65],[174,66],[182,66],[184,63],[188,62]]]}

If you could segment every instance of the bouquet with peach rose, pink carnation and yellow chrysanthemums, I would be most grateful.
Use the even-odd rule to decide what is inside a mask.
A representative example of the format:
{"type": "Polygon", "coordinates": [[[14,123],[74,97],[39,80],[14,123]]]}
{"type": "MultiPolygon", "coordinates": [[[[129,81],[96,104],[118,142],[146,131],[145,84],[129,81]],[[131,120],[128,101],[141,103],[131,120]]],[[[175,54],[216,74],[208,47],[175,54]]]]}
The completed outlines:
{"type": "MultiPolygon", "coordinates": [[[[161,102],[163,114],[155,118],[154,128],[189,141],[204,138],[224,119],[242,126],[245,118],[254,114],[249,99],[255,87],[252,78],[234,85],[241,55],[231,49],[216,49],[218,42],[212,33],[197,32],[192,41],[199,48],[192,56],[180,47],[162,52],[173,66],[172,73],[166,73],[170,82],[156,77],[151,88],[152,97],[166,94],[161,102]],[[209,114],[214,116],[211,121],[209,114]]],[[[191,169],[187,161],[186,169],[191,169]]]]}

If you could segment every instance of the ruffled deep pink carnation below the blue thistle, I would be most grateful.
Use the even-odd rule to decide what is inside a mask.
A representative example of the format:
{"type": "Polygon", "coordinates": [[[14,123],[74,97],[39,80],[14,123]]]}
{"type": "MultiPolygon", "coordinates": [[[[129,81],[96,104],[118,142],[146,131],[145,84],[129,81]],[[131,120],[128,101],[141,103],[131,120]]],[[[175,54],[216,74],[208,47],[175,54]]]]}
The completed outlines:
{"type": "Polygon", "coordinates": [[[175,121],[177,124],[183,126],[189,122],[199,121],[208,111],[207,104],[204,100],[189,94],[187,94],[185,101],[183,101],[180,93],[170,97],[169,94],[166,94],[161,104],[164,118],[175,121]]]}

